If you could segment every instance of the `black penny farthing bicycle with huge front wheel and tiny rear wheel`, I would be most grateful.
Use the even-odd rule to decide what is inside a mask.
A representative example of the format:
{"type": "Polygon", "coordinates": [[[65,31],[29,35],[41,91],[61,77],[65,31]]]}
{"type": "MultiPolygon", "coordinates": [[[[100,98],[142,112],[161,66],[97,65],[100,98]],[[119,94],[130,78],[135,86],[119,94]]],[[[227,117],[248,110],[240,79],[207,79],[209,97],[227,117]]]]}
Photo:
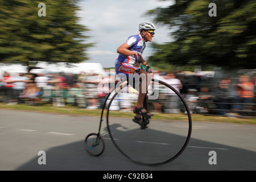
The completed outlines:
{"type": "Polygon", "coordinates": [[[120,81],[106,96],[101,111],[98,133],[86,136],[85,148],[92,156],[100,156],[105,150],[100,131],[104,109],[108,137],[127,159],[145,166],[160,166],[175,160],[187,147],[192,132],[189,108],[177,90],[166,82],[151,79],[144,108],[154,114],[150,119],[142,117],[142,125],[132,121],[132,105],[138,93],[120,81]],[[121,111],[119,111],[121,110],[121,111]],[[130,111],[130,112],[129,112],[130,111]],[[113,117],[131,113],[131,117],[113,117]]]}

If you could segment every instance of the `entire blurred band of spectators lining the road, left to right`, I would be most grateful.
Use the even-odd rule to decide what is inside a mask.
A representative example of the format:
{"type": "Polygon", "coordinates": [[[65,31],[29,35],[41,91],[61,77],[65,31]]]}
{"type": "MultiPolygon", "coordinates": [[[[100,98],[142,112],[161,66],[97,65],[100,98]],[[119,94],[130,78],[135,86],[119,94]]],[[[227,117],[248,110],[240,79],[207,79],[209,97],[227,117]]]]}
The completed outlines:
{"type": "MultiPolygon", "coordinates": [[[[241,74],[237,77],[210,77],[186,75],[184,73],[159,73],[154,71],[158,80],[172,85],[189,106],[191,113],[221,115],[227,117],[247,117],[255,114],[255,82],[254,75],[241,74]]],[[[108,80],[96,73],[3,73],[0,76],[0,102],[14,105],[26,103],[53,106],[72,105],[85,109],[102,108],[106,95],[111,87],[119,82],[119,78],[108,80]],[[102,81],[108,82],[101,86],[102,81]]],[[[129,93],[122,93],[112,103],[110,109],[131,111],[137,102],[136,90],[129,86],[129,93]]],[[[154,112],[185,113],[180,107],[178,97],[173,93],[161,91],[159,98],[151,101],[154,112]]],[[[111,98],[111,97],[110,97],[111,98]]]]}

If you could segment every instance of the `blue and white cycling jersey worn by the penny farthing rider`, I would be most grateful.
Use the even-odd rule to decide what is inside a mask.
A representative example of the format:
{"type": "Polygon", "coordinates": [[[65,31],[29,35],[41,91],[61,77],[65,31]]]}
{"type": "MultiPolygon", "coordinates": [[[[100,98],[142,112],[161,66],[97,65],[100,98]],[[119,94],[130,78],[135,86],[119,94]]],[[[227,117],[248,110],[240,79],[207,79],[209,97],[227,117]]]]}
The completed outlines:
{"type": "MultiPolygon", "coordinates": [[[[130,46],[129,47],[130,51],[135,51],[135,52],[138,52],[138,53],[143,53],[143,50],[146,47],[146,43],[143,40],[141,34],[130,36],[126,40],[125,43],[127,43],[130,46]]],[[[119,54],[119,56],[117,57],[117,61],[115,61],[115,65],[117,65],[118,63],[134,66],[137,62],[135,60],[134,55],[132,55],[132,56],[123,56],[123,55],[119,54]]]]}

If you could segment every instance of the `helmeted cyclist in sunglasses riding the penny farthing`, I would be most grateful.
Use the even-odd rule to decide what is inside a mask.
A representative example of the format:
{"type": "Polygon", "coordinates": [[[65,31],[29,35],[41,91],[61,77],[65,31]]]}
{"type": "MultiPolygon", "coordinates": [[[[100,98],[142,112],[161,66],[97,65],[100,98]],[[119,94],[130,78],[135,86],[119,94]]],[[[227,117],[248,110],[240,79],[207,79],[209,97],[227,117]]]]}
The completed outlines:
{"type": "MultiPolygon", "coordinates": [[[[150,119],[152,114],[149,113],[143,107],[144,98],[148,92],[147,88],[151,81],[152,69],[150,65],[142,58],[142,53],[144,48],[146,47],[146,42],[151,42],[152,38],[155,34],[155,26],[151,22],[145,22],[139,24],[139,34],[130,36],[125,43],[117,48],[117,53],[119,56],[115,61],[115,71],[117,74],[123,73],[125,74],[127,81],[129,84],[134,84],[134,79],[129,80],[129,74],[133,75],[143,75],[140,78],[139,85],[139,96],[138,96],[138,104],[134,109],[134,113],[136,114],[133,121],[142,126],[142,116],[146,119],[150,119]],[[142,64],[146,67],[147,72],[139,69],[138,64],[142,64]],[[142,88],[142,85],[145,85],[146,82],[146,92],[142,88]]],[[[133,85],[134,86],[134,85],[133,85]]]]}

